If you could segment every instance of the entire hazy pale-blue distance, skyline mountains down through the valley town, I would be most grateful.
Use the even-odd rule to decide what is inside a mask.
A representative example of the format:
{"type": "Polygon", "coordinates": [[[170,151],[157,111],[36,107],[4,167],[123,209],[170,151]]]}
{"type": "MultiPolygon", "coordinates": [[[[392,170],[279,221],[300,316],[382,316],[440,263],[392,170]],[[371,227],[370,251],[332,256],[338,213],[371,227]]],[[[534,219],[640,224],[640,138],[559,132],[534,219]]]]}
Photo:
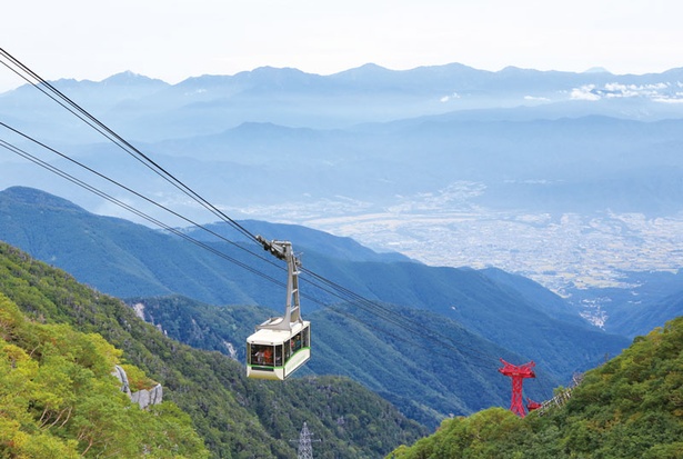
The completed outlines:
{"type": "MultiPolygon", "coordinates": [[[[178,84],[130,72],[53,84],[234,218],[350,236],[431,266],[500,268],[573,297],[611,327],[604,293],[644,295],[629,272],[683,263],[681,73],[368,64],[332,76],[261,68],[178,84]]],[[[0,94],[0,117],[192,221],[212,221],[30,86],[0,94]]],[[[160,214],[24,137],[2,129],[2,139],[160,214]]],[[[10,152],[0,163],[0,188],[34,187],[131,218],[10,152]]]]}

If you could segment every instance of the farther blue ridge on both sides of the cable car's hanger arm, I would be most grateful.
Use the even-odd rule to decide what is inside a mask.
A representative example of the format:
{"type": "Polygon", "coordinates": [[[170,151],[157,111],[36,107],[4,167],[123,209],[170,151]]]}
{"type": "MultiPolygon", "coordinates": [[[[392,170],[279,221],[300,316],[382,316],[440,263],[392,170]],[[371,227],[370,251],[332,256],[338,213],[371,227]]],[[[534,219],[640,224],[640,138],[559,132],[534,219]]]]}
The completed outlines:
{"type": "MultiPolygon", "coordinates": [[[[72,272],[77,279],[121,298],[180,293],[214,305],[261,305],[280,311],[284,290],[268,278],[285,279],[282,267],[262,259],[260,247],[235,247],[225,241],[211,248],[228,255],[245,270],[215,252],[125,220],[94,216],[59,198],[31,189],[9,189],[0,193],[0,230],[6,241],[72,272]],[[46,203],[46,204],[43,204],[46,203]],[[243,249],[255,250],[254,253],[243,249]]],[[[248,226],[248,222],[244,222],[248,226]]],[[[277,226],[257,224],[278,232],[277,226]]],[[[192,233],[192,230],[185,230],[192,233]]],[[[195,231],[195,230],[194,230],[195,231]]],[[[311,230],[283,228],[290,236],[312,235],[311,230]]],[[[279,238],[278,235],[269,237],[279,238]]],[[[433,268],[421,263],[382,261],[368,256],[368,249],[348,239],[324,235],[308,236],[292,243],[303,251],[307,270],[371,301],[426,310],[455,320],[468,331],[525,356],[559,379],[617,353],[627,341],[610,336],[577,319],[558,313],[562,300],[545,291],[532,299],[526,279],[496,280],[491,272],[471,269],[433,268]],[[320,242],[325,242],[321,246],[320,242]],[[341,249],[330,249],[337,241],[341,249]],[[319,250],[324,251],[321,253],[319,250]],[[349,250],[353,256],[345,256],[349,250]],[[335,256],[332,257],[331,253],[335,256]],[[335,258],[344,257],[344,258],[335,258]],[[372,258],[372,260],[370,260],[372,258]],[[546,307],[542,298],[553,298],[546,307]]],[[[349,300],[320,289],[317,279],[302,275],[308,311],[349,300]]],[[[352,297],[353,298],[353,297],[352,297]]],[[[380,322],[382,318],[375,318],[380,322]]],[[[374,325],[373,325],[374,326],[374,325]]]]}

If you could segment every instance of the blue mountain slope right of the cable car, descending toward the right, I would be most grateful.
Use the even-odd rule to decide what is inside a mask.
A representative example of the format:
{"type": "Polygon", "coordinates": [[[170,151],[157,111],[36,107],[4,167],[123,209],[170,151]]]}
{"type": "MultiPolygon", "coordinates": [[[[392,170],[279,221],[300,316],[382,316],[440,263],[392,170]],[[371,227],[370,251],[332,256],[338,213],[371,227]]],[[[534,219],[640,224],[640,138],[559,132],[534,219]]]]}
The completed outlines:
{"type": "Polygon", "coordinates": [[[605,352],[619,353],[627,346],[626,339],[576,320],[554,319],[509,285],[500,286],[485,273],[471,269],[401,262],[351,265],[343,260],[328,269],[311,263],[310,269],[331,279],[364,280],[343,285],[355,286],[353,290],[365,298],[425,309],[454,320],[469,331],[534,360],[561,380],[595,365],[605,352]]]}

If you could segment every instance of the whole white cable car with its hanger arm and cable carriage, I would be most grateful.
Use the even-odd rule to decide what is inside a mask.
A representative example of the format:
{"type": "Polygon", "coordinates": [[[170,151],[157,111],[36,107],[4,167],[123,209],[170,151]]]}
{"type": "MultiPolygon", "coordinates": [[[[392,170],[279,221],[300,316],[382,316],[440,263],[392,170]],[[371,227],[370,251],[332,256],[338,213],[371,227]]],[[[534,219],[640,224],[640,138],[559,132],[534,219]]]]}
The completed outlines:
{"type": "Polygon", "coordinates": [[[301,317],[299,303],[300,260],[289,241],[257,239],[263,248],[287,262],[284,317],[273,317],[257,326],[247,338],[247,376],[284,380],[311,358],[311,322],[301,317]]]}

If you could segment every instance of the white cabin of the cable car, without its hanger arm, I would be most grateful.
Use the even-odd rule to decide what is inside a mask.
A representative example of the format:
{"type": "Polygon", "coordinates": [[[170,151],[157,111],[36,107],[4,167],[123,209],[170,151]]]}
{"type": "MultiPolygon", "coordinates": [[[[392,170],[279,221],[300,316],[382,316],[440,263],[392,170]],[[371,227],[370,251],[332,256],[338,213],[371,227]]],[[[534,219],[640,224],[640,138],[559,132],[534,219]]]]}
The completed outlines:
{"type": "Polygon", "coordinates": [[[311,322],[305,320],[292,330],[262,328],[247,339],[249,378],[283,380],[310,358],[311,322]]]}

